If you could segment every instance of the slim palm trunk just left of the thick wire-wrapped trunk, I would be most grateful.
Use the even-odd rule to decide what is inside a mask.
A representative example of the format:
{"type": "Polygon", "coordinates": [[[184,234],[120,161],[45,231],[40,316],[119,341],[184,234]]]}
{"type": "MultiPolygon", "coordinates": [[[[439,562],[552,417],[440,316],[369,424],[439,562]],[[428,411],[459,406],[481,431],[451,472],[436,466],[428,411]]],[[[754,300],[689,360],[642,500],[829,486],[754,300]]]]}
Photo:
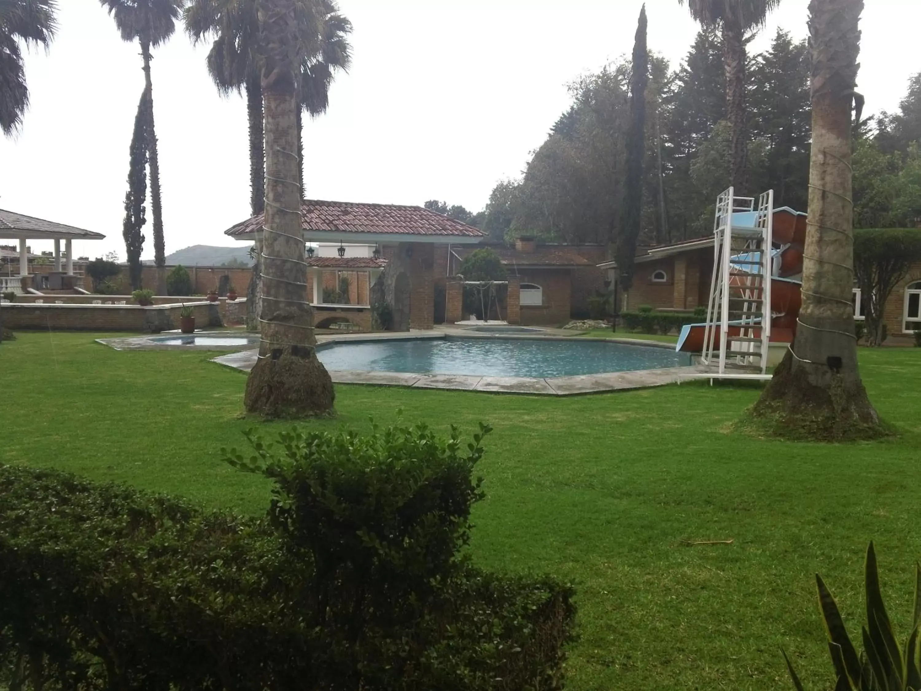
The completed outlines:
{"type": "MultiPolygon", "coordinates": [[[[262,86],[259,75],[251,70],[243,85],[246,89],[246,112],[250,121],[250,210],[259,216],[265,209],[265,146],[262,133],[262,86]]],[[[252,264],[250,285],[246,289],[246,328],[259,331],[262,307],[262,237],[257,236],[256,259],[252,264]]]]}

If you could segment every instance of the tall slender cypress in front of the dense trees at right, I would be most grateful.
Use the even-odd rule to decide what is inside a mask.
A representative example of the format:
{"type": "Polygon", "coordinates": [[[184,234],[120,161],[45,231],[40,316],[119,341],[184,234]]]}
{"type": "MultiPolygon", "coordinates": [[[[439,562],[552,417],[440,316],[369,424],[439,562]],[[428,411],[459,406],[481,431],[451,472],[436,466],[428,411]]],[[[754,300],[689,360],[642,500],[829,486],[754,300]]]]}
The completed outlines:
{"type": "Polygon", "coordinates": [[[636,240],[643,212],[643,159],[646,158],[646,87],[649,58],[646,47],[646,5],[640,9],[634,38],[630,74],[630,130],[626,141],[626,178],[621,205],[620,232],[617,235],[617,272],[621,287],[633,284],[636,240]]]}

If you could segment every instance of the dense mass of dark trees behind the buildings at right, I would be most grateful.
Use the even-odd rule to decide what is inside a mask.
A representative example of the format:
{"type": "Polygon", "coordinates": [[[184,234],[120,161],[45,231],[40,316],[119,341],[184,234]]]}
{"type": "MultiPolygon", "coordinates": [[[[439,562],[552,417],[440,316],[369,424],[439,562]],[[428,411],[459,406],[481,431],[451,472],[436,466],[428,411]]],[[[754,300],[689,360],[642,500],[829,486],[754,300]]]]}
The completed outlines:
{"type": "MultiPolygon", "coordinates": [[[[519,180],[496,183],[480,228],[491,239],[615,243],[621,235],[630,61],[570,85],[572,104],[519,180]]],[[[810,156],[810,62],[806,41],[778,29],[747,68],[747,174],[752,193],[805,211],[810,156]]],[[[640,244],[708,234],[717,193],[729,186],[721,38],[697,34],[675,69],[650,55],[640,244]],[[659,178],[659,157],[661,177],[659,178]],[[660,193],[661,190],[661,193],[660,193]],[[664,212],[663,212],[664,207],[664,212]]],[[[856,228],[905,228],[921,217],[921,74],[899,110],[869,118],[855,140],[856,228]]]]}

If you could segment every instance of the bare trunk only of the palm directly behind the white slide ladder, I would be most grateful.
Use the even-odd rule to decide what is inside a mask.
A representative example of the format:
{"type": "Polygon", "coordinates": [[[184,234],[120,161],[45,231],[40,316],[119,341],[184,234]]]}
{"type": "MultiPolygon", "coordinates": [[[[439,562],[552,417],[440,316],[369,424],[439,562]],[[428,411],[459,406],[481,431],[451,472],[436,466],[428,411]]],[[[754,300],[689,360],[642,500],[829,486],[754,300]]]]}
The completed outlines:
{"type": "Polygon", "coordinates": [[[737,18],[725,18],[723,31],[723,63],[726,66],[726,117],[729,120],[732,160],[730,184],[737,195],[746,193],[748,186],[748,126],[745,112],[745,35],[737,18]]]}

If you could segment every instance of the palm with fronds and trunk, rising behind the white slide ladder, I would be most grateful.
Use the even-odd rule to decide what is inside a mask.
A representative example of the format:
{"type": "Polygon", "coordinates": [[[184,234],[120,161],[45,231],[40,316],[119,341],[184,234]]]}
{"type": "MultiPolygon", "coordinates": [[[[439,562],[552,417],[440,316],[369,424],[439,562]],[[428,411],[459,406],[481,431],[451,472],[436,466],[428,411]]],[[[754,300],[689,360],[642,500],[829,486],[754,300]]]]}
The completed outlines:
{"type": "MultiPolygon", "coordinates": [[[[685,0],[678,0],[683,5],[685,0]]],[[[726,67],[726,117],[729,120],[732,161],[730,184],[745,193],[748,184],[748,128],[745,112],[745,32],[764,24],[780,0],[686,0],[691,17],[704,27],[722,32],[726,67]]]]}

